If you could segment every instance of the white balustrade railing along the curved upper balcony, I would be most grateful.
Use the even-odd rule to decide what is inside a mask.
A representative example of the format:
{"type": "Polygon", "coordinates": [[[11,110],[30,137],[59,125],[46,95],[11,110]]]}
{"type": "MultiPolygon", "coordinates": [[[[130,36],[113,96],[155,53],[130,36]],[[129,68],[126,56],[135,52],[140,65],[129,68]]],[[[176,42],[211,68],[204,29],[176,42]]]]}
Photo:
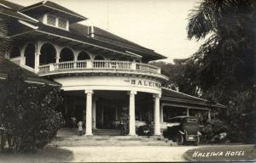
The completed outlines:
{"type": "Polygon", "coordinates": [[[160,68],[154,65],[142,64],[130,61],[115,60],[79,60],[60,62],[48,65],[40,65],[38,73],[46,74],[61,70],[135,70],[160,74],[160,68]]]}

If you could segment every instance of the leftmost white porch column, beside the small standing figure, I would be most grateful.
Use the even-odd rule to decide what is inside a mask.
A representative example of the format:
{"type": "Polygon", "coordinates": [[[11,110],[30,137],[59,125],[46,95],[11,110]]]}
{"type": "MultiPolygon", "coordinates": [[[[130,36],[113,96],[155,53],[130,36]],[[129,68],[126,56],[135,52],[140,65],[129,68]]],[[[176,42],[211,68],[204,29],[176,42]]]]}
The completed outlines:
{"type": "Polygon", "coordinates": [[[91,110],[92,110],[92,90],[85,90],[86,93],[86,130],[85,135],[92,135],[91,110]]]}

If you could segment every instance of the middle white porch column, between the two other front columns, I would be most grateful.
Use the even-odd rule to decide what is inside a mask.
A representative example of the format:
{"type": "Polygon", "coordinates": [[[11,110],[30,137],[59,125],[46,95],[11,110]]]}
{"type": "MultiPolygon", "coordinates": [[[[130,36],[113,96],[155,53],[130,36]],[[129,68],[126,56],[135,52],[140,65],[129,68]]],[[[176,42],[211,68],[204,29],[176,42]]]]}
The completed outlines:
{"type": "Polygon", "coordinates": [[[136,91],[131,91],[130,95],[130,103],[129,103],[129,135],[135,136],[135,95],[136,91]]]}

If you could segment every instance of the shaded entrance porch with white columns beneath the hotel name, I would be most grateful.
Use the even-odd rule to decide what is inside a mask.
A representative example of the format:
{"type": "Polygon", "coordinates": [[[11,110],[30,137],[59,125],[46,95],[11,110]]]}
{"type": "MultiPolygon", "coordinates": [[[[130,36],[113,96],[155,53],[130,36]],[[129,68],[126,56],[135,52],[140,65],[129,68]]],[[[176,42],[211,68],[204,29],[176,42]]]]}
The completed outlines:
{"type": "Polygon", "coordinates": [[[160,135],[160,97],[153,93],[67,91],[62,114],[66,127],[77,131],[82,121],[85,135],[135,136],[136,127],[146,125],[150,118],[154,121],[154,135],[160,135]]]}

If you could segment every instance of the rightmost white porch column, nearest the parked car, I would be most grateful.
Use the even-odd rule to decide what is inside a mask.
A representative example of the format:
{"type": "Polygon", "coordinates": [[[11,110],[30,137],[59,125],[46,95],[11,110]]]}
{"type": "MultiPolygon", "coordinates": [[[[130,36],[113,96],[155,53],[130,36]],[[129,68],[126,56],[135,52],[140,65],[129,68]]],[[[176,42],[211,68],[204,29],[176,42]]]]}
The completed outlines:
{"type": "Polygon", "coordinates": [[[160,135],[160,94],[154,94],[154,135],[160,135]]]}

